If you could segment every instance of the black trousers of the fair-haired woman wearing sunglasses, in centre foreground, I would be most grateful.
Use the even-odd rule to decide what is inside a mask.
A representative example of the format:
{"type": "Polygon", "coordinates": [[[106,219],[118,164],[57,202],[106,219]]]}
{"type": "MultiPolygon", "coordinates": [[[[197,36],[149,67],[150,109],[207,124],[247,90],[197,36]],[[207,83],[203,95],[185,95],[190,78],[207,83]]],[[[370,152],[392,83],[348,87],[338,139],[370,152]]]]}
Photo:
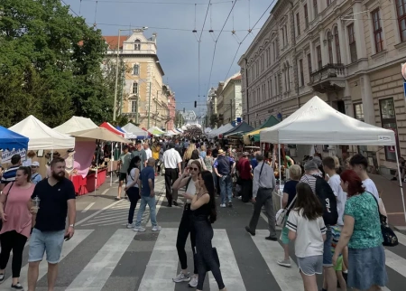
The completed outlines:
{"type": "MultiPolygon", "coordinates": [[[[182,269],[188,268],[188,257],[186,256],[186,241],[190,233],[190,244],[193,254],[196,252],[196,231],[193,225],[193,211],[190,210],[190,204],[185,204],[182,219],[178,229],[178,238],[176,239],[176,249],[178,250],[178,257],[180,260],[180,267],[182,269]]],[[[194,258],[195,256],[193,256],[194,258]]],[[[198,274],[198,262],[193,259],[194,270],[193,274],[198,274]]]]}

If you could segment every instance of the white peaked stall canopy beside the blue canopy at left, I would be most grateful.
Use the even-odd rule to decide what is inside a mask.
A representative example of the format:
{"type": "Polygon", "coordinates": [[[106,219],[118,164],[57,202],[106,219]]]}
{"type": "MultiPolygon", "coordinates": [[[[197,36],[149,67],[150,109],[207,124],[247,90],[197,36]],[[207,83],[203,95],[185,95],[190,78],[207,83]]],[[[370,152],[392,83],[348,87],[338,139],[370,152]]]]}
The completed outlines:
{"type": "Polygon", "coordinates": [[[35,150],[51,150],[64,149],[75,147],[75,138],[61,134],[46,126],[41,120],[30,115],[15,126],[8,128],[22,136],[27,136],[28,149],[35,150]]]}

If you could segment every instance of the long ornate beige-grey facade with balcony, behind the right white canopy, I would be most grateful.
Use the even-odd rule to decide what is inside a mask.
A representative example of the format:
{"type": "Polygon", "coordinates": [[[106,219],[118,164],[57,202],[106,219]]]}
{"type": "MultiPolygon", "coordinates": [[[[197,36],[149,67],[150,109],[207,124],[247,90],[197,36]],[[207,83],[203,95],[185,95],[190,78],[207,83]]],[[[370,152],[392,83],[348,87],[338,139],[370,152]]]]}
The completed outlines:
{"type": "MultiPolygon", "coordinates": [[[[238,61],[243,118],[257,127],[270,115],[288,117],[317,95],[348,116],[392,129],[404,156],[405,60],[403,2],[279,0],[238,61]]],[[[390,146],[355,151],[394,167],[390,146]]]]}

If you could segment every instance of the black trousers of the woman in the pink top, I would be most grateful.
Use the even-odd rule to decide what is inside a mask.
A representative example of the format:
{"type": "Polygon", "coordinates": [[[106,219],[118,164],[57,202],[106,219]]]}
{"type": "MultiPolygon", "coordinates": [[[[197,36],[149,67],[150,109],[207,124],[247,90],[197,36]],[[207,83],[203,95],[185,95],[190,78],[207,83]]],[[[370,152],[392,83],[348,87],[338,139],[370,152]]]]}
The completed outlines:
{"type": "Polygon", "coordinates": [[[0,269],[5,269],[13,249],[12,273],[13,277],[20,277],[21,266],[23,264],[23,250],[27,237],[15,230],[7,231],[0,235],[2,252],[0,253],[0,269]]]}

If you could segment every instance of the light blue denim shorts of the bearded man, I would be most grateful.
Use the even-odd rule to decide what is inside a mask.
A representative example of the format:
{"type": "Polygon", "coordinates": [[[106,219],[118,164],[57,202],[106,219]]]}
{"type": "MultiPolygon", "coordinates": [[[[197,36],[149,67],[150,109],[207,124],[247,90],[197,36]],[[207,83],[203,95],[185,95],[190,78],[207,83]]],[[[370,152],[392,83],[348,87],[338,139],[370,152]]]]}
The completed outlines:
{"type": "Polygon", "coordinates": [[[28,261],[42,261],[43,255],[46,251],[48,263],[58,264],[60,262],[60,253],[62,251],[64,236],[65,230],[41,231],[33,229],[30,238],[28,261]]]}

